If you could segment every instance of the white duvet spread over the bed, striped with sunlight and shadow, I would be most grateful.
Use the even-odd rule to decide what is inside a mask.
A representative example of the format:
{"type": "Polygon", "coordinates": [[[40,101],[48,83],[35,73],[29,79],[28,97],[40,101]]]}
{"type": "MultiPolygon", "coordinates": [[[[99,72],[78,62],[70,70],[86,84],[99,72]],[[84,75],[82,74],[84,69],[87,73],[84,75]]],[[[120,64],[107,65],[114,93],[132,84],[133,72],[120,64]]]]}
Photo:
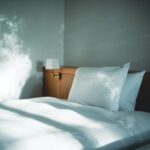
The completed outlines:
{"type": "Polygon", "coordinates": [[[150,140],[150,113],[43,97],[0,103],[0,150],[121,149],[150,140]]]}

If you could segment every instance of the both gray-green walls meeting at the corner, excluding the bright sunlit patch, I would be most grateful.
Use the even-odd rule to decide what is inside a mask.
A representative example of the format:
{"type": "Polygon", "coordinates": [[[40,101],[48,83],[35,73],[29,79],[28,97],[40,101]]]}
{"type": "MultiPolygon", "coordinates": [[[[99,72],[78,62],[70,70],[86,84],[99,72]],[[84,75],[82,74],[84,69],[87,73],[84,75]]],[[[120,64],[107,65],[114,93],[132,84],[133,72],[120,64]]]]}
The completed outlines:
{"type": "Polygon", "coordinates": [[[25,20],[32,72],[21,98],[42,95],[46,58],[67,66],[130,61],[133,69],[150,70],[149,0],[1,0],[0,15],[25,20]]]}

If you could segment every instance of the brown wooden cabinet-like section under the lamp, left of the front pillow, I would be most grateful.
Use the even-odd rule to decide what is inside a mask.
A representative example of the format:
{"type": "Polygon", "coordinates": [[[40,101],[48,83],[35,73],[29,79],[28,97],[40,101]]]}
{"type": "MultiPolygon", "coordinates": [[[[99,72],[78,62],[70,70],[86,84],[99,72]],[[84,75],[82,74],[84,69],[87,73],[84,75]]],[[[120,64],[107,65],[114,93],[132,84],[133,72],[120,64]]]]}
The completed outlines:
{"type": "Polygon", "coordinates": [[[61,67],[60,69],[43,70],[44,96],[67,99],[74,79],[75,67],[61,67]]]}

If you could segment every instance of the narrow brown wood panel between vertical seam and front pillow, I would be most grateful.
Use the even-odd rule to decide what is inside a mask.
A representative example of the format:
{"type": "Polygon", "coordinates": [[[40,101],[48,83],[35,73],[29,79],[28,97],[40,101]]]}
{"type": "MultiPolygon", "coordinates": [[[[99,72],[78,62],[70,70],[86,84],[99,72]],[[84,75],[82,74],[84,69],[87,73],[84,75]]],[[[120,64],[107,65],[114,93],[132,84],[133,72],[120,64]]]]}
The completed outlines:
{"type": "Polygon", "coordinates": [[[68,95],[72,86],[73,78],[74,78],[74,75],[62,73],[61,96],[60,96],[62,99],[68,98],[68,95]]]}

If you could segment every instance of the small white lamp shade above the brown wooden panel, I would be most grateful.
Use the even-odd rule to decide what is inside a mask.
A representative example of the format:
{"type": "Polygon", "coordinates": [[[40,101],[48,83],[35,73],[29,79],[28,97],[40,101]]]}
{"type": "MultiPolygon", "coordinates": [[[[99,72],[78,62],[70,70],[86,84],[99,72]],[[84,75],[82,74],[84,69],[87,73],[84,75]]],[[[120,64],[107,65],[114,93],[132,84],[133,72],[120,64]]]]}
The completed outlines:
{"type": "Polygon", "coordinates": [[[59,69],[59,60],[56,58],[48,58],[46,59],[46,69],[59,69]]]}

